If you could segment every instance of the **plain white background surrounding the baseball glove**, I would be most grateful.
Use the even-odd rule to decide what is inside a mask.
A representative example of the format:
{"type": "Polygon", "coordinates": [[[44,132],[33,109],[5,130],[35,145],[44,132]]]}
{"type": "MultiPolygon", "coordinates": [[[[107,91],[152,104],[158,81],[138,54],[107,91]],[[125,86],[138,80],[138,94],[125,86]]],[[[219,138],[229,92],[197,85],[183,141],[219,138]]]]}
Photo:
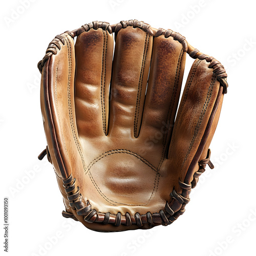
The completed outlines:
{"type": "Polygon", "coordinates": [[[2,1],[0,8],[0,204],[9,198],[9,255],[255,255],[253,1],[28,1],[25,8],[19,0],[2,1]],[[57,34],[93,20],[134,18],[178,31],[220,60],[229,88],[210,146],[216,167],[200,177],[185,214],[150,231],[100,233],[61,216],[53,168],[37,160],[46,146],[37,62],[57,34]]]}

